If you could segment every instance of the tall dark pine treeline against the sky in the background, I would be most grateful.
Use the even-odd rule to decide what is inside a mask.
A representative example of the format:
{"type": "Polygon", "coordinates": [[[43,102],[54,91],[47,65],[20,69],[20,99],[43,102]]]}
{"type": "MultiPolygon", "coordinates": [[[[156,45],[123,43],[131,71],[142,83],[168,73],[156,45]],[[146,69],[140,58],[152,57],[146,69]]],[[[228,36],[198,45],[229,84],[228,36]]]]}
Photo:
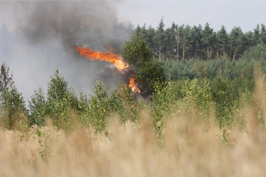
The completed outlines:
{"type": "Polygon", "coordinates": [[[165,29],[161,19],[157,29],[146,25],[135,29],[137,36],[143,37],[159,60],[190,60],[190,59],[218,59],[228,57],[237,60],[244,51],[259,43],[266,44],[265,25],[244,33],[240,27],[234,27],[230,33],[224,26],[219,31],[214,31],[209,23],[204,27],[176,25],[165,29]]]}

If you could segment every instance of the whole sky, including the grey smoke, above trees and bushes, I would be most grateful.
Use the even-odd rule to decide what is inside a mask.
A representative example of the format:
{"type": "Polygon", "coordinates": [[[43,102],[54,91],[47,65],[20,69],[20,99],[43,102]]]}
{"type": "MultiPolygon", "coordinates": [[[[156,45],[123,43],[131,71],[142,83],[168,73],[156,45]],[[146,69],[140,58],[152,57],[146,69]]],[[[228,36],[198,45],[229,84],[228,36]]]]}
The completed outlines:
{"type": "Polygon", "coordinates": [[[214,31],[253,31],[266,25],[265,9],[266,1],[0,1],[0,63],[26,100],[39,86],[46,91],[57,67],[77,94],[92,93],[98,78],[111,88],[127,78],[111,63],[80,57],[76,45],[119,53],[131,26],[156,28],[161,17],[166,28],[208,22],[214,31]]]}

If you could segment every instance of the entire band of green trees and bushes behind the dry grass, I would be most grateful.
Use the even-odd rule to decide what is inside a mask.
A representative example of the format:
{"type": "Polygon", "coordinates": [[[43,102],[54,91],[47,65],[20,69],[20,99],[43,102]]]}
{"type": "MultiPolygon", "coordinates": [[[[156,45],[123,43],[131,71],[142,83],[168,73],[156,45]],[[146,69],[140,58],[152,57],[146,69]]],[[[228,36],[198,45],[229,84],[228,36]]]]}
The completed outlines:
{"type": "MultiPolygon", "coordinates": [[[[110,92],[100,81],[96,81],[93,95],[80,93],[78,99],[57,69],[51,76],[47,95],[41,88],[34,91],[27,110],[4,63],[0,74],[0,126],[22,130],[30,124],[45,126],[50,118],[58,129],[69,129],[80,123],[104,132],[111,114],[117,114],[122,123],[141,124],[141,111],[147,107],[154,130],[161,135],[166,117],[179,113],[182,104],[197,121],[206,121],[214,105],[225,143],[227,128],[236,124],[244,128],[245,107],[255,104],[258,122],[265,124],[260,97],[253,96],[256,94],[253,92],[254,61],[266,73],[263,24],[244,34],[240,27],[228,33],[222,26],[214,32],[208,23],[204,29],[201,25],[174,23],[165,29],[162,18],[156,30],[151,26],[146,30],[144,25],[137,26],[135,33],[125,41],[121,56],[130,66],[141,96],[150,96],[146,102],[122,82],[110,92]],[[167,82],[165,75],[170,75],[167,82]]],[[[47,151],[47,143],[40,143],[42,156],[47,151]]]]}

